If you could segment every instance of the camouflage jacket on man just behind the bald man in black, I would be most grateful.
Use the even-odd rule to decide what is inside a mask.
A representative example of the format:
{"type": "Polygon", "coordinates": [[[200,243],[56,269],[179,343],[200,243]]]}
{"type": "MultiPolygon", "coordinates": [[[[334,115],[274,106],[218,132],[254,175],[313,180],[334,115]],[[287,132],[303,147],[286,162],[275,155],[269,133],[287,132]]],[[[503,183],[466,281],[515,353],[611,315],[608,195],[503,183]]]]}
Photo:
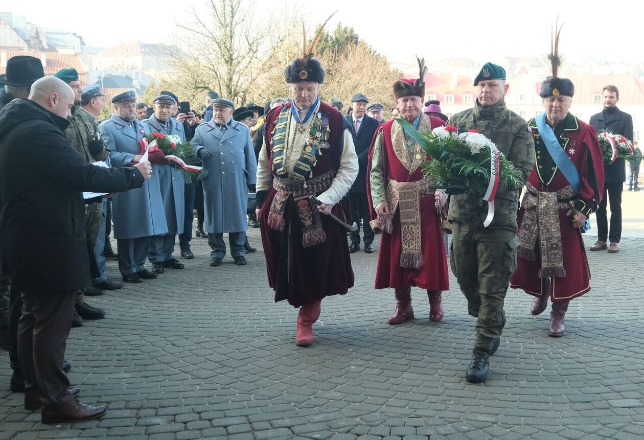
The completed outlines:
{"type": "Polygon", "coordinates": [[[65,129],[65,137],[71,146],[81,153],[81,156],[88,162],[108,158],[109,151],[100,137],[99,124],[97,124],[96,119],[79,106],[74,106],[71,109],[71,113],[70,126],[65,129]],[[91,155],[90,142],[95,144],[95,148],[99,153],[91,155]],[[96,142],[100,142],[100,145],[96,144],[96,142]]]}

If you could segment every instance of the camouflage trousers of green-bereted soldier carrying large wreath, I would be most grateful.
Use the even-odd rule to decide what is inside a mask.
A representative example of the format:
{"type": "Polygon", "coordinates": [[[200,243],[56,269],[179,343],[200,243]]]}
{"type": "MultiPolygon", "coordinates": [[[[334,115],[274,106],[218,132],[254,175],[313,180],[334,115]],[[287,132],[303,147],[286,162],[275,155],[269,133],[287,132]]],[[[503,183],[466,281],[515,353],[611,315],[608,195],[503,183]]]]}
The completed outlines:
{"type": "Polygon", "coordinates": [[[471,228],[453,222],[451,270],[477,318],[475,347],[490,350],[506,323],[503,310],[510,276],[516,269],[518,239],[507,229],[471,228]]]}

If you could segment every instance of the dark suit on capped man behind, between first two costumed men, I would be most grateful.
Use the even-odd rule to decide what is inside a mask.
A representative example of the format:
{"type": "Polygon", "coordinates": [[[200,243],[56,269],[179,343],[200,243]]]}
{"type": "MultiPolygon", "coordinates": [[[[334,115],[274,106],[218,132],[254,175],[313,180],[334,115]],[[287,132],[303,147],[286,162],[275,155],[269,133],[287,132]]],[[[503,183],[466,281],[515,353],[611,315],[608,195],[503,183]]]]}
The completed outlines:
{"type": "MultiPolygon", "coordinates": [[[[358,155],[358,176],[349,191],[349,200],[351,201],[351,217],[356,222],[363,220],[363,232],[365,234],[365,245],[374,242],[374,231],[372,231],[369,221],[371,214],[369,211],[369,202],[366,198],[366,169],[369,156],[369,148],[374,140],[375,131],[378,129],[378,121],[365,115],[355,133],[355,120],[353,116],[347,117],[351,125],[351,134],[354,138],[355,154],[358,155]]],[[[360,229],[351,233],[351,242],[360,243],[360,229]]]]}

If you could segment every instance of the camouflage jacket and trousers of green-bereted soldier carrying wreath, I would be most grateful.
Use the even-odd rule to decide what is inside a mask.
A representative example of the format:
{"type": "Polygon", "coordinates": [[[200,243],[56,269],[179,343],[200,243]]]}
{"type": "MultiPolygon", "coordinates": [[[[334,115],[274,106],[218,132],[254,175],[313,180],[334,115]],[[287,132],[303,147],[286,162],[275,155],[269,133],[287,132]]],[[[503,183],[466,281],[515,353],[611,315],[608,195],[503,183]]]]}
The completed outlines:
{"type": "MultiPolygon", "coordinates": [[[[478,104],[450,118],[459,133],[476,129],[497,145],[521,173],[522,186],[535,166],[535,146],[527,122],[507,110],[504,100],[489,107],[478,104]]],[[[521,187],[500,184],[495,216],[483,222],[488,204],[468,194],[450,197],[448,220],[452,227],[451,270],[468,300],[468,312],[478,317],[475,347],[491,350],[506,322],[503,303],[516,269],[516,214],[521,187]]]]}

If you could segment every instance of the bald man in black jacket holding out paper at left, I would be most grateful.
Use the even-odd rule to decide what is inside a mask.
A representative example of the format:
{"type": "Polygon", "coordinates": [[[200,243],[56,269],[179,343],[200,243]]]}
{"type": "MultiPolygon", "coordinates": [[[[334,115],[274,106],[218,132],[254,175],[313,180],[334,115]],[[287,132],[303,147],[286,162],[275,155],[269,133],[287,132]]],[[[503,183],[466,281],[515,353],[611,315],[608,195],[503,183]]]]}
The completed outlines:
{"type": "Polygon", "coordinates": [[[0,111],[0,212],[8,270],[23,298],[24,407],[42,405],[43,423],[90,420],[106,411],[80,403],[61,368],[76,291],[90,283],[82,191],[127,191],[151,175],[149,162],[108,169],[75,151],[64,136],[74,99],[70,86],[44,77],[29,99],[0,111]]]}

